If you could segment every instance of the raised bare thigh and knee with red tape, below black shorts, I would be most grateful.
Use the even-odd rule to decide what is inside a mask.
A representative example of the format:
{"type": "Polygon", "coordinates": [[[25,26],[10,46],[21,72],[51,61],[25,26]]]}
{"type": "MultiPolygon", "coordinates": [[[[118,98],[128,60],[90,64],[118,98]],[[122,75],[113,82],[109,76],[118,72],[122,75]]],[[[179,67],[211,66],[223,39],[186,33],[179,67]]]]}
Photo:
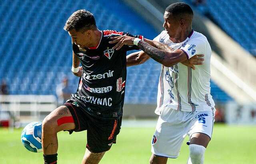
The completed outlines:
{"type": "Polygon", "coordinates": [[[59,132],[63,130],[72,130],[75,128],[74,119],[68,107],[62,105],[49,115],[43,121],[43,129],[59,132]]]}

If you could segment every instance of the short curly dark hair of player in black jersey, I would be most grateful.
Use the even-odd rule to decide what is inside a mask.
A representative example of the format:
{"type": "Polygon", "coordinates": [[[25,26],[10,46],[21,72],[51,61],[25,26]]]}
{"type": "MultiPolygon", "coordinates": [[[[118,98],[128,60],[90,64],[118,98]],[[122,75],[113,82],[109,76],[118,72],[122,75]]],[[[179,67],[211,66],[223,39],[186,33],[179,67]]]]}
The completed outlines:
{"type": "Polygon", "coordinates": [[[92,13],[87,10],[77,10],[66,21],[64,30],[70,31],[75,29],[76,31],[96,29],[96,21],[92,13]]]}

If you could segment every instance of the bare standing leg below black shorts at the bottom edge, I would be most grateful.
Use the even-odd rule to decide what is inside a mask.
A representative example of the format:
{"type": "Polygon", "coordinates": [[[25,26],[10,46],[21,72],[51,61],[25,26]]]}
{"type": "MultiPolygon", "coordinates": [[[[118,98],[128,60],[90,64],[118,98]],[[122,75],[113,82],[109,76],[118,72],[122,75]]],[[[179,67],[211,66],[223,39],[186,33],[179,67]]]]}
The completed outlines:
{"type": "Polygon", "coordinates": [[[98,164],[105,152],[90,152],[87,148],[84,154],[84,158],[82,160],[82,164],[98,164]]]}

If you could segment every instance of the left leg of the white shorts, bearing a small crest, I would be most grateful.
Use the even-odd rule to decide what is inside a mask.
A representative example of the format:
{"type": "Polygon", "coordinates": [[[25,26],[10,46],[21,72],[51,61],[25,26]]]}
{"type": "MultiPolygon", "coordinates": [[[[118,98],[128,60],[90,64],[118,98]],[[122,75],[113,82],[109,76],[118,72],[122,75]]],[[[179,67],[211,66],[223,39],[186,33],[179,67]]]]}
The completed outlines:
{"type": "Polygon", "coordinates": [[[186,136],[186,128],[177,118],[172,118],[172,121],[164,121],[161,117],[158,118],[151,147],[151,152],[155,155],[168,158],[179,156],[182,142],[186,136]]]}

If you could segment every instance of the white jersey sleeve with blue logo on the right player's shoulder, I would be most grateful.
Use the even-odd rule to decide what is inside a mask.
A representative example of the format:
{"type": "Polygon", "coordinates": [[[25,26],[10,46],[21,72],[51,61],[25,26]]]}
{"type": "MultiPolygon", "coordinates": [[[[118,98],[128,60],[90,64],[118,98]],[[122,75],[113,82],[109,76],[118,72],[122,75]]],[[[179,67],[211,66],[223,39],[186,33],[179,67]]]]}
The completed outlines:
{"type": "Polygon", "coordinates": [[[203,38],[190,39],[186,45],[180,49],[187,55],[190,59],[194,55],[204,55],[206,53],[206,41],[203,38]]]}

